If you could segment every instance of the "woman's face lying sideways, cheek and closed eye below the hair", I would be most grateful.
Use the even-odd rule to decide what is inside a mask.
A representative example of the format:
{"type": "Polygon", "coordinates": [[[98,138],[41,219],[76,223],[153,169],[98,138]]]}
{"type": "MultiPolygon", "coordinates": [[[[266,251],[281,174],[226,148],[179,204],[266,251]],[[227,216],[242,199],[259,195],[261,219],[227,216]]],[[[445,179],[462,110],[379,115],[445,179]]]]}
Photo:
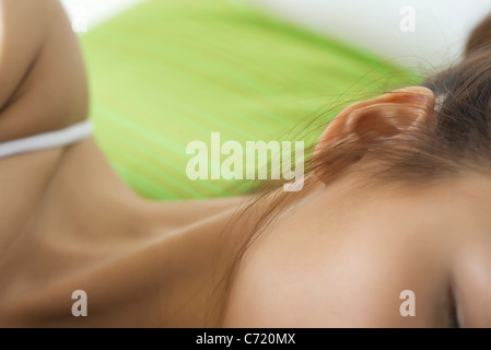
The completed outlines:
{"type": "Polygon", "coordinates": [[[491,325],[488,178],[353,194],[344,177],[318,190],[246,254],[229,327],[491,325]],[[330,208],[336,208],[332,210],[330,208]],[[401,291],[417,317],[401,317],[401,291]]]}

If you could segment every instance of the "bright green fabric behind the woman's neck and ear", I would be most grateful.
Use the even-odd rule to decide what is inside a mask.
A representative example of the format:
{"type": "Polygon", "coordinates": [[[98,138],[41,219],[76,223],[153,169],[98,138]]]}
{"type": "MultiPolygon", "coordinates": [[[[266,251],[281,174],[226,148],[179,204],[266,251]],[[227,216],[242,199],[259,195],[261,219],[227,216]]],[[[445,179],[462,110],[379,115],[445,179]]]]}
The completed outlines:
{"type": "MultiPolygon", "coordinates": [[[[159,200],[247,190],[246,180],[189,179],[191,141],[210,144],[211,132],[242,144],[289,140],[285,132],[341,95],[353,102],[416,79],[225,0],[149,1],[89,32],[82,45],[97,142],[133,189],[159,200]]],[[[337,110],[322,116],[323,127],[337,110]]]]}

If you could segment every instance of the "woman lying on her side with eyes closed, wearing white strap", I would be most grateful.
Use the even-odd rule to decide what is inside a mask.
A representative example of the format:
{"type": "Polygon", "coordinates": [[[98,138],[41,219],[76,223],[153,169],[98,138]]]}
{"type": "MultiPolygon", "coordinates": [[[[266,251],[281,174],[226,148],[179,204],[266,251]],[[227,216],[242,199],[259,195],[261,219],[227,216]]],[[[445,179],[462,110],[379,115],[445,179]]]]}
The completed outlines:
{"type": "Polygon", "coordinates": [[[491,325],[490,19],[424,86],[341,112],[304,190],[155,203],[89,137],[59,3],[1,4],[0,326],[491,325]]]}

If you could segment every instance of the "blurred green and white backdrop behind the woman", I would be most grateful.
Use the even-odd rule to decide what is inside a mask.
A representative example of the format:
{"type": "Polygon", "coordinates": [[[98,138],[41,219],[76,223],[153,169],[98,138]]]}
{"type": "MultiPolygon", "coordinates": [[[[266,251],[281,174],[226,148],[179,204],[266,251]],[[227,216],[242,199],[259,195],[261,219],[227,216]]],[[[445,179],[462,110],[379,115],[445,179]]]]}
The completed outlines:
{"type": "Polygon", "coordinates": [[[249,191],[238,177],[189,179],[187,145],[210,150],[211,132],[242,145],[315,144],[347,105],[457,60],[491,12],[489,0],[62,2],[87,66],[97,143],[156,200],[249,191]]]}

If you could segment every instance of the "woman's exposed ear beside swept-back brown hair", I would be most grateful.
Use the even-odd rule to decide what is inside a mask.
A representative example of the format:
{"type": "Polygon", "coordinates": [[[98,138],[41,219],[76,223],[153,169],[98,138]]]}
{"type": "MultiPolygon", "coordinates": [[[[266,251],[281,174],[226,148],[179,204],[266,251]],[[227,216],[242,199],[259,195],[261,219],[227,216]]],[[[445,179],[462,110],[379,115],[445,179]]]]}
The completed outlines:
{"type": "MultiPolygon", "coordinates": [[[[394,138],[428,120],[435,106],[430,89],[411,86],[386,93],[377,98],[344,108],[324,131],[314,151],[314,159],[343,140],[369,145],[375,140],[394,138]]],[[[341,150],[339,150],[341,151],[341,150]]],[[[358,160],[360,155],[356,155],[358,160]]],[[[316,167],[314,164],[314,167],[316,167]]],[[[318,174],[316,174],[318,175],[318,174]]],[[[322,176],[317,176],[322,179],[322,176]]]]}

